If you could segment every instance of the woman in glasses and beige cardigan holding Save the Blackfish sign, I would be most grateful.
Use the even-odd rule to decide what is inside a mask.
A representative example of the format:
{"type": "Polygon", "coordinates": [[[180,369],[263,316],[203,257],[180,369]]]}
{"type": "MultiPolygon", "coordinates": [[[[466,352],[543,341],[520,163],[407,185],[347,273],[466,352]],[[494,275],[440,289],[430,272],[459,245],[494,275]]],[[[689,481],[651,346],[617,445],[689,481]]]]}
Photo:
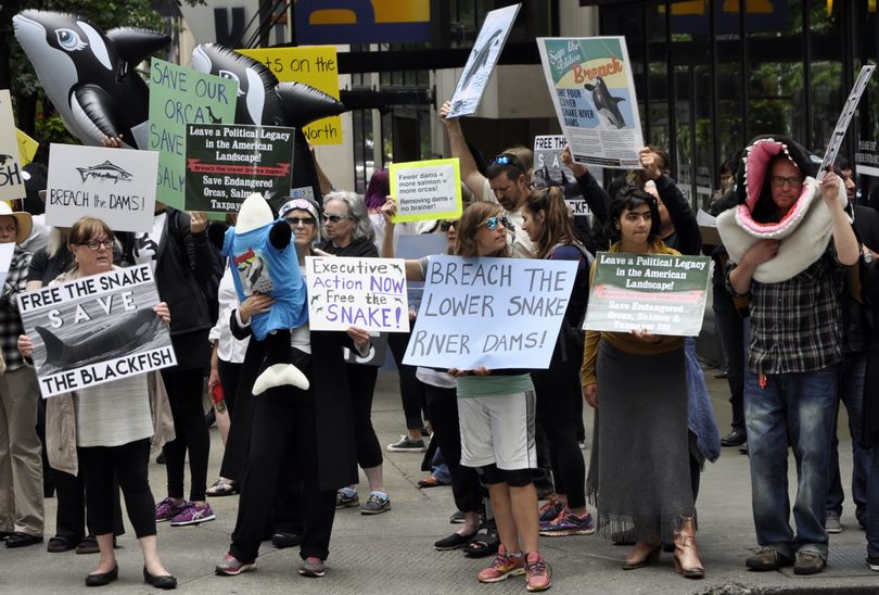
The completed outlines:
{"type": "MultiPolygon", "coordinates": [[[[79,219],[68,238],[76,266],[52,283],[113,270],[113,231],[102,220],[79,219]]],[[[164,302],[153,311],[165,324],[170,321],[164,302]]],[[[34,343],[28,336],[18,337],[18,350],[26,358],[31,357],[34,343]]],[[[86,577],[86,586],[105,585],[119,575],[113,552],[114,476],[143,550],[143,581],[156,588],[177,586],[177,579],[165,569],[156,552],[155,501],[146,468],[150,438],[155,432],[146,380],[146,375],[132,376],[76,391],[59,423],[62,436],[74,436],[86,483],[86,503],[100,548],[98,568],[86,577]]]]}

